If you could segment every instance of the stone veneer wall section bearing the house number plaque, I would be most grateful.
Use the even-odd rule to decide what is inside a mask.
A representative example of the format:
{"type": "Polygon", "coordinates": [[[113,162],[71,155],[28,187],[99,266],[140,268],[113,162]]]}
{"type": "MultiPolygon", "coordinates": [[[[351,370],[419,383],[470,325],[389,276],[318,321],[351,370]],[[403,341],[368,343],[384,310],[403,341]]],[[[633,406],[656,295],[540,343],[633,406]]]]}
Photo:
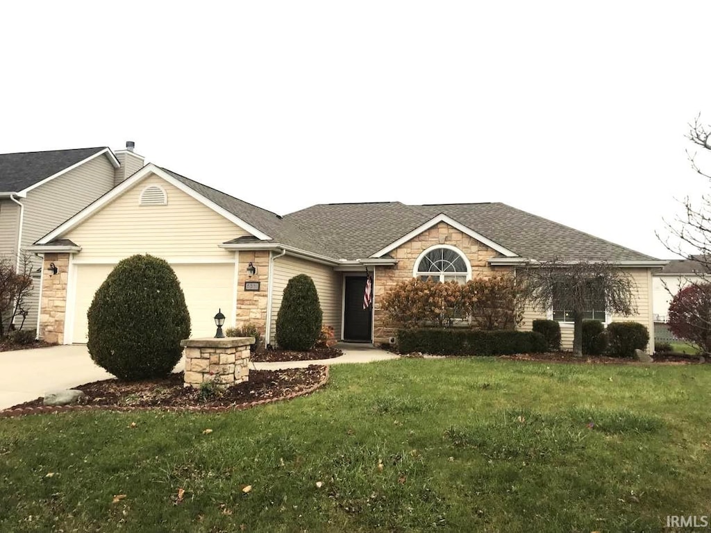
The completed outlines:
{"type": "Polygon", "coordinates": [[[267,331],[267,295],[269,294],[269,252],[240,253],[240,280],[237,286],[237,328],[254,324],[262,333],[267,331]],[[257,274],[247,275],[247,265],[252,263],[257,268],[257,274]],[[245,281],[260,281],[259,291],[245,291],[245,281]]]}

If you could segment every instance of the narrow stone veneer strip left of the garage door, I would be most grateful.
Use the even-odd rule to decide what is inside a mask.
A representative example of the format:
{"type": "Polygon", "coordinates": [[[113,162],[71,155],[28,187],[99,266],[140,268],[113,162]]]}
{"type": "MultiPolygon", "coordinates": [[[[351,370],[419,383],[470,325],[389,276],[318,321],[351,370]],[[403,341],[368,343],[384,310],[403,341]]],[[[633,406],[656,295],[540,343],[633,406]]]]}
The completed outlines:
{"type": "Polygon", "coordinates": [[[42,301],[39,338],[47,343],[64,342],[64,321],[67,310],[67,280],[69,254],[45,254],[42,265],[42,301]],[[57,274],[49,271],[54,263],[57,274]]]}

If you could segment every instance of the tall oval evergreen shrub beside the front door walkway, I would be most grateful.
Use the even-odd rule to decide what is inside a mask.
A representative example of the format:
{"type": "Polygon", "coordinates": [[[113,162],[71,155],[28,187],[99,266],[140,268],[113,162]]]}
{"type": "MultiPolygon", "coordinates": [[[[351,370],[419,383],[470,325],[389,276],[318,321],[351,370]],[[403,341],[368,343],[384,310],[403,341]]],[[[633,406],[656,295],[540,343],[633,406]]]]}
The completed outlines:
{"type": "Polygon", "coordinates": [[[277,314],[277,345],[284,350],[311,350],[321,334],[323,318],[314,280],[306,274],[294,276],[284,289],[277,314]]]}

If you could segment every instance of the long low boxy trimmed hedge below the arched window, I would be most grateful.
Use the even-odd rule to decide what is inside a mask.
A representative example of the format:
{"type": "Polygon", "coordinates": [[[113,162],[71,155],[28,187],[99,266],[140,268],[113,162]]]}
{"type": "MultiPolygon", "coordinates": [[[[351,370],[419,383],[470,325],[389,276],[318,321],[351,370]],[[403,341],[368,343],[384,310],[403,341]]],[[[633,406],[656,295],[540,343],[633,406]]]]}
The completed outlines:
{"type": "Polygon", "coordinates": [[[536,331],[413,328],[397,332],[397,351],[435,355],[542,353],[545,337],[536,331]]]}

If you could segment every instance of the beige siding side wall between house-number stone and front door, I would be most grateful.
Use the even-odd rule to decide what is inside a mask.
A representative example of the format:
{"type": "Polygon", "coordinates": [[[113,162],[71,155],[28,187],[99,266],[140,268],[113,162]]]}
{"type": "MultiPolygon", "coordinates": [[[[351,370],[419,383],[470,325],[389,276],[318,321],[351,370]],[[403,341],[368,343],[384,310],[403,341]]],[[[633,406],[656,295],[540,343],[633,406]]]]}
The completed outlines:
{"type": "Polygon", "coordinates": [[[274,259],[272,271],[272,317],[269,326],[270,339],[274,342],[274,333],[277,328],[277,314],[282,306],[282,296],[284,289],[289,283],[289,279],[299,274],[311,276],[319,293],[321,310],[324,311],[324,325],[331,325],[333,333],[337,339],[341,338],[341,298],[343,289],[341,288],[342,278],[340,273],[334,272],[332,266],[314,263],[286,255],[274,259]]]}

